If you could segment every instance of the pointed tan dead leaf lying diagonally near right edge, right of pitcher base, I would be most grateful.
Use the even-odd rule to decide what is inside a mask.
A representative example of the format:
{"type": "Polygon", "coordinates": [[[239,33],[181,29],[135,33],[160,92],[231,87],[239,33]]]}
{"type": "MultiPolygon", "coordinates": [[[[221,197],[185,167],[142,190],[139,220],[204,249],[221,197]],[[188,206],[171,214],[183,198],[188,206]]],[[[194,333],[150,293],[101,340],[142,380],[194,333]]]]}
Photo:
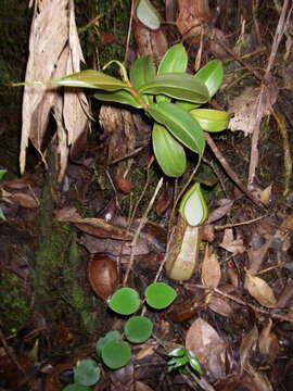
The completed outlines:
{"type": "Polygon", "coordinates": [[[277,300],[275,298],[272,289],[268,286],[268,283],[259,277],[251,275],[251,273],[246,272],[246,288],[250,294],[258,301],[259,304],[268,307],[276,308],[277,300]]]}

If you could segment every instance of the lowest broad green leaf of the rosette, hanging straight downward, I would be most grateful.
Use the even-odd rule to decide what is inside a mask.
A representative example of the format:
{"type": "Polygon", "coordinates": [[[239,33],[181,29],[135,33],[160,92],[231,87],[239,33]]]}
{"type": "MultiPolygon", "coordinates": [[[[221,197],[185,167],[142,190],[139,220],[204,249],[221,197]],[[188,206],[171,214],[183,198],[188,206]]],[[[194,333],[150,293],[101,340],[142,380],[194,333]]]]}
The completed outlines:
{"type": "Polygon", "coordinates": [[[163,173],[175,178],[182,175],[187,166],[183,147],[157,123],[153,127],[152,140],[154,154],[163,173]]]}

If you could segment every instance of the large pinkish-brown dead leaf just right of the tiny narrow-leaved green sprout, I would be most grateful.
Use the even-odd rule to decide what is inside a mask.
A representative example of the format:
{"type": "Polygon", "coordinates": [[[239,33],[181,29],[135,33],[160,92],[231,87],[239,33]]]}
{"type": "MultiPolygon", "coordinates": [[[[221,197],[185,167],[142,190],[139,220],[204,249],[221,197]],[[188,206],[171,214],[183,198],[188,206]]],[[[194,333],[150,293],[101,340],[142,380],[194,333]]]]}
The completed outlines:
{"type": "Polygon", "coordinates": [[[202,318],[193,321],[187,332],[186,348],[195,354],[200,364],[215,379],[225,376],[225,342],[207,321],[202,318]]]}

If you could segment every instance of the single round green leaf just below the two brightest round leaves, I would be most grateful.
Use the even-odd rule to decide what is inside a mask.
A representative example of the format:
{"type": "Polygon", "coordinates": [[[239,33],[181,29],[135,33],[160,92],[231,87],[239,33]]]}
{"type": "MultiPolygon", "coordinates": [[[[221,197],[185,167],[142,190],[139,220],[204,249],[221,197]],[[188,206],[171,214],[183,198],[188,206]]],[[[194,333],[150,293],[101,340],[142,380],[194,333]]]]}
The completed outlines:
{"type": "Polygon", "coordinates": [[[124,326],[128,341],[141,343],[146,341],[153,332],[153,323],[144,316],[132,316],[124,326]]]}

